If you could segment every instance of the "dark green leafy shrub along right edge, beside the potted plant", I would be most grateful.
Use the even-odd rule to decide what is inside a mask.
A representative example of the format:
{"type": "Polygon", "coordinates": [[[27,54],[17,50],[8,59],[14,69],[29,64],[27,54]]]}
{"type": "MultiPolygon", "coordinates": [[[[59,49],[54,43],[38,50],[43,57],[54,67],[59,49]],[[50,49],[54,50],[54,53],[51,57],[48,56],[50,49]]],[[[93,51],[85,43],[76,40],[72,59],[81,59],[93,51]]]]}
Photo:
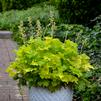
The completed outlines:
{"type": "Polygon", "coordinates": [[[86,78],[91,82],[83,90],[77,91],[77,96],[81,96],[80,101],[100,101],[101,100],[101,26],[97,24],[92,30],[80,35],[78,43],[82,46],[82,52],[91,57],[91,63],[95,69],[91,73],[86,73],[86,78]]]}

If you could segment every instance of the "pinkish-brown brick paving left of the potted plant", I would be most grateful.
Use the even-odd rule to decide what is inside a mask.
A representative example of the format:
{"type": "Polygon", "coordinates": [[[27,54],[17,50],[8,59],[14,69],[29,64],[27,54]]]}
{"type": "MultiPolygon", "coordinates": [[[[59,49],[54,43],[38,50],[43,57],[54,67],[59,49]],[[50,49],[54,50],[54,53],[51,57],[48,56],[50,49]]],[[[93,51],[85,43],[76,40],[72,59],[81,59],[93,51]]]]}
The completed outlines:
{"type": "Polygon", "coordinates": [[[6,68],[14,60],[13,52],[17,45],[8,37],[0,39],[0,101],[29,101],[28,89],[25,87],[23,95],[20,94],[17,82],[6,73],[6,68]]]}

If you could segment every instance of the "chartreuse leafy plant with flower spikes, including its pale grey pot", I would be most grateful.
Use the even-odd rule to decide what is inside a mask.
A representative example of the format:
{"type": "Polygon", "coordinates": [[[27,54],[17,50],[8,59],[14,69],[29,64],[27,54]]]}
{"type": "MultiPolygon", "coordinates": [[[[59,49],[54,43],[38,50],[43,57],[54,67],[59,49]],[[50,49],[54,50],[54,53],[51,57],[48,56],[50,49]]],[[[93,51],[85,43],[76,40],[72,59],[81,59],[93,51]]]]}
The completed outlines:
{"type": "Polygon", "coordinates": [[[51,37],[45,37],[37,22],[36,37],[23,42],[7,69],[20,86],[29,87],[30,101],[72,101],[73,85],[83,81],[83,74],[92,68],[89,57],[79,54],[76,43],[53,38],[53,20],[51,24],[51,37]]]}

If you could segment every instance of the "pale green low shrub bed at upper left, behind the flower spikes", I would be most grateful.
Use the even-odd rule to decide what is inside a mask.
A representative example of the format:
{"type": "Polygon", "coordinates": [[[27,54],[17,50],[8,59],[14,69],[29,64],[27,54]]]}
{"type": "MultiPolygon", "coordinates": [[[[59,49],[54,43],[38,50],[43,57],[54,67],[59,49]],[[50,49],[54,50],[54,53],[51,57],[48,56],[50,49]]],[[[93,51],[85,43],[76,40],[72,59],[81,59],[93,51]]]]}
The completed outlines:
{"type": "Polygon", "coordinates": [[[27,22],[29,16],[32,17],[33,23],[39,19],[43,24],[48,22],[49,13],[53,11],[55,18],[58,19],[58,11],[53,7],[43,3],[36,5],[27,10],[11,10],[5,13],[0,13],[0,29],[11,29],[12,26],[18,25],[20,21],[27,22]]]}

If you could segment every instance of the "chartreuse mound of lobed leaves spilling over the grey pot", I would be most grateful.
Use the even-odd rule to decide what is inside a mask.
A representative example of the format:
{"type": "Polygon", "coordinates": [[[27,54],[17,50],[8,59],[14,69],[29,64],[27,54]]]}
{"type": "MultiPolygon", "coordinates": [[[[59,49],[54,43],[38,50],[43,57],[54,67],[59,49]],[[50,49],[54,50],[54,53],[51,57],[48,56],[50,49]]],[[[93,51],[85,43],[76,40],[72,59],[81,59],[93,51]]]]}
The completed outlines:
{"type": "Polygon", "coordinates": [[[79,54],[77,44],[57,38],[31,38],[17,51],[8,73],[20,85],[39,86],[55,91],[68,83],[78,83],[92,66],[89,57],[79,54]]]}

